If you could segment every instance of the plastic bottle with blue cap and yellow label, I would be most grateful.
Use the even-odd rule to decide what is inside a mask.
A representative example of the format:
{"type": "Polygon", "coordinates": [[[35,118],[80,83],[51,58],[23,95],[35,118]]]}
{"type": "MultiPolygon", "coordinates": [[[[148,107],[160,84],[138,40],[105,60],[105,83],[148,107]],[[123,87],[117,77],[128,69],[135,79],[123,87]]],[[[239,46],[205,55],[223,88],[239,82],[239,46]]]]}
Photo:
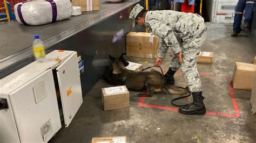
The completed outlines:
{"type": "Polygon", "coordinates": [[[43,62],[45,58],[44,43],[39,39],[39,35],[35,35],[35,40],[33,41],[33,54],[39,62],[43,62]]]}

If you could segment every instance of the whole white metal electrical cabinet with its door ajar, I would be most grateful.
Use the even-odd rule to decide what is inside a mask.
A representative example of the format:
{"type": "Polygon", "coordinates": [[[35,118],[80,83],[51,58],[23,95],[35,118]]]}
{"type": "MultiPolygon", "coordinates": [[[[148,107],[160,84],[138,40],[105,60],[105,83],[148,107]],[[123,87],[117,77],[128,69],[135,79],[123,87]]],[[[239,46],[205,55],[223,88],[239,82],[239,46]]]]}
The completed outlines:
{"type": "Polygon", "coordinates": [[[0,80],[0,142],[48,142],[82,103],[77,53],[53,51],[0,80]]]}

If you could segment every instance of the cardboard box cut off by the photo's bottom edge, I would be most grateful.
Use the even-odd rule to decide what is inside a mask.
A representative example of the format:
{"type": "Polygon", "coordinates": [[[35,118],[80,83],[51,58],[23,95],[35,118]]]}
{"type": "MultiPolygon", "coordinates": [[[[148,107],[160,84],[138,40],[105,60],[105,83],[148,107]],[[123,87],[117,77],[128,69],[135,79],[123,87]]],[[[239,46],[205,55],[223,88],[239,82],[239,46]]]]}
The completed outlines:
{"type": "Polygon", "coordinates": [[[92,138],[91,143],[126,143],[126,136],[92,138]]]}

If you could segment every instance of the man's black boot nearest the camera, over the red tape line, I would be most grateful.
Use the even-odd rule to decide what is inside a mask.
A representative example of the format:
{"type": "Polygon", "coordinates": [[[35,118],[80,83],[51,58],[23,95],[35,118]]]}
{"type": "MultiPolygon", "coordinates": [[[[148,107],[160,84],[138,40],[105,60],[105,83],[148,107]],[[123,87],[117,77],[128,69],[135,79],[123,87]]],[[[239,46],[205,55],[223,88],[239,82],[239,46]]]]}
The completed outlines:
{"type": "Polygon", "coordinates": [[[186,115],[204,115],[206,113],[205,105],[203,102],[204,97],[202,91],[192,92],[193,103],[179,108],[179,112],[186,115]]]}

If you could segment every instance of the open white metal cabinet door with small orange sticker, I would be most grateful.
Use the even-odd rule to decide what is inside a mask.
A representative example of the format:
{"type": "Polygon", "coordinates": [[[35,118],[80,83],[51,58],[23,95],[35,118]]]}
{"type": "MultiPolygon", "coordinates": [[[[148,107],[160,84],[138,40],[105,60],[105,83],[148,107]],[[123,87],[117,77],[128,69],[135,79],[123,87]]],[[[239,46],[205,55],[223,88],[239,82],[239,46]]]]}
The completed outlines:
{"type": "Polygon", "coordinates": [[[77,53],[73,53],[57,67],[60,97],[65,126],[68,127],[83,103],[77,53]]]}

